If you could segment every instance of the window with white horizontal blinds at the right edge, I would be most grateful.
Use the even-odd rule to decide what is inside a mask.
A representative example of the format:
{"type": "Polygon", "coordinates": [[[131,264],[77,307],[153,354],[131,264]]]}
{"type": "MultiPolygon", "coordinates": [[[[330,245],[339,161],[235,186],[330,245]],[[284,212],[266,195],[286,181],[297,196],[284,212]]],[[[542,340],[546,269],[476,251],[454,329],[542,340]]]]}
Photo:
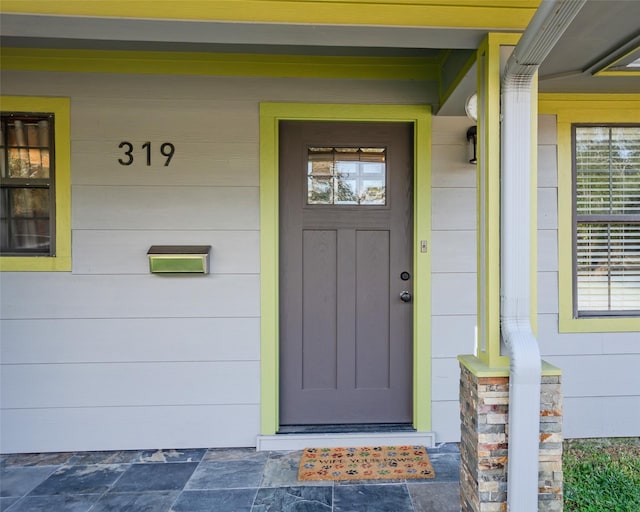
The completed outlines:
{"type": "Polygon", "coordinates": [[[640,125],[574,125],[574,314],[640,315],[640,125]]]}

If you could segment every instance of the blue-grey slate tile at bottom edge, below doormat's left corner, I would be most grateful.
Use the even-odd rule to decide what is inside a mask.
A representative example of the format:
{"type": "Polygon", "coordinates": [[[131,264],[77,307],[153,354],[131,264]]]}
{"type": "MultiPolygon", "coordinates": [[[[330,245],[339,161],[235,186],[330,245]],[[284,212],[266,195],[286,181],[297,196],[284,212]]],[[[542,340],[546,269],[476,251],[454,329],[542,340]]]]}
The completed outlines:
{"type": "Polygon", "coordinates": [[[258,491],[251,512],[331,512],[331,487],[274,487],[258,491]]]}

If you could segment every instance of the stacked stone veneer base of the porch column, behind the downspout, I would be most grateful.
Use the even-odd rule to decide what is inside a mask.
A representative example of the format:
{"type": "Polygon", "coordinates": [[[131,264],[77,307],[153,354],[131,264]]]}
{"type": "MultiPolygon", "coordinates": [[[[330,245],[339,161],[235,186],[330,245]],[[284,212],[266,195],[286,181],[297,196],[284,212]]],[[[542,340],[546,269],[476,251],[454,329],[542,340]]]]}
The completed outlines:
{"type": "MultiPolygon", "coordinates": [[[[460,502],[462,512],[506,512],[509,448],[508,369],[460,356],[460,502]]],[[[562,510],[562,387],[543,363],[540,390],[538,510],[562,510]]],[[[518,512],[518,511],[512,511],[518,512]]]]}

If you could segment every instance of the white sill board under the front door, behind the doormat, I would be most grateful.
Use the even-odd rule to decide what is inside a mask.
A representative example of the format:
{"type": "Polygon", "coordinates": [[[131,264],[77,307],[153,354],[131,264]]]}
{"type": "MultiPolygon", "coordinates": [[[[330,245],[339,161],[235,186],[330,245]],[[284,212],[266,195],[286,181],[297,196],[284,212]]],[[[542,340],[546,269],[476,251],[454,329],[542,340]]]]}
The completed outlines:
{"type": "Polygon", "coordinates": [[[305,448],[338,448],[341,446],[420,445],[434,448],[433,432],[366,432],[335,434],[276,434],[258,436],[257,451],[303,450],[305,448]]]}

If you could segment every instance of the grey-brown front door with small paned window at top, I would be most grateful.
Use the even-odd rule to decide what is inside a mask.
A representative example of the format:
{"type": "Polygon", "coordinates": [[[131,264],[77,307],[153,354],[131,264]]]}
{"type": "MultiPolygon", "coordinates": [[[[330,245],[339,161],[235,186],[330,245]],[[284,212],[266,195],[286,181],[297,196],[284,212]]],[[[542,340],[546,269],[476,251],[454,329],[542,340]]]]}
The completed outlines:
{"type": "Polygon", "coordinates": [[[413,125],[279,140],[280,424],[411,423],[413,125]]]}

